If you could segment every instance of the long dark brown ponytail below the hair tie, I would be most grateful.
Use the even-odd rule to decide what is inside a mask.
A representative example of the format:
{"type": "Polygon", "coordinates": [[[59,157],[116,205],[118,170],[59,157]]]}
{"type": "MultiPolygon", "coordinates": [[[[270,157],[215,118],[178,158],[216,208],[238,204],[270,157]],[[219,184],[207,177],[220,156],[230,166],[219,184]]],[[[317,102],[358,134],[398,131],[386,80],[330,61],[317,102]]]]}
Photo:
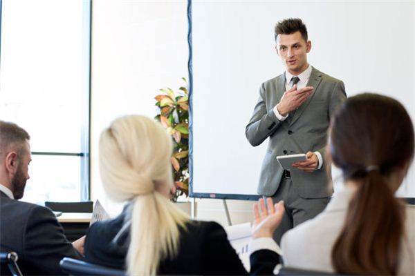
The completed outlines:
{"type": "Polygon", "coordinates": [[[396,275],[404,227],[402,211],[379,170],[368,172],[351,199],[344,227],[333,246],[335,270],[396,275]]]}

